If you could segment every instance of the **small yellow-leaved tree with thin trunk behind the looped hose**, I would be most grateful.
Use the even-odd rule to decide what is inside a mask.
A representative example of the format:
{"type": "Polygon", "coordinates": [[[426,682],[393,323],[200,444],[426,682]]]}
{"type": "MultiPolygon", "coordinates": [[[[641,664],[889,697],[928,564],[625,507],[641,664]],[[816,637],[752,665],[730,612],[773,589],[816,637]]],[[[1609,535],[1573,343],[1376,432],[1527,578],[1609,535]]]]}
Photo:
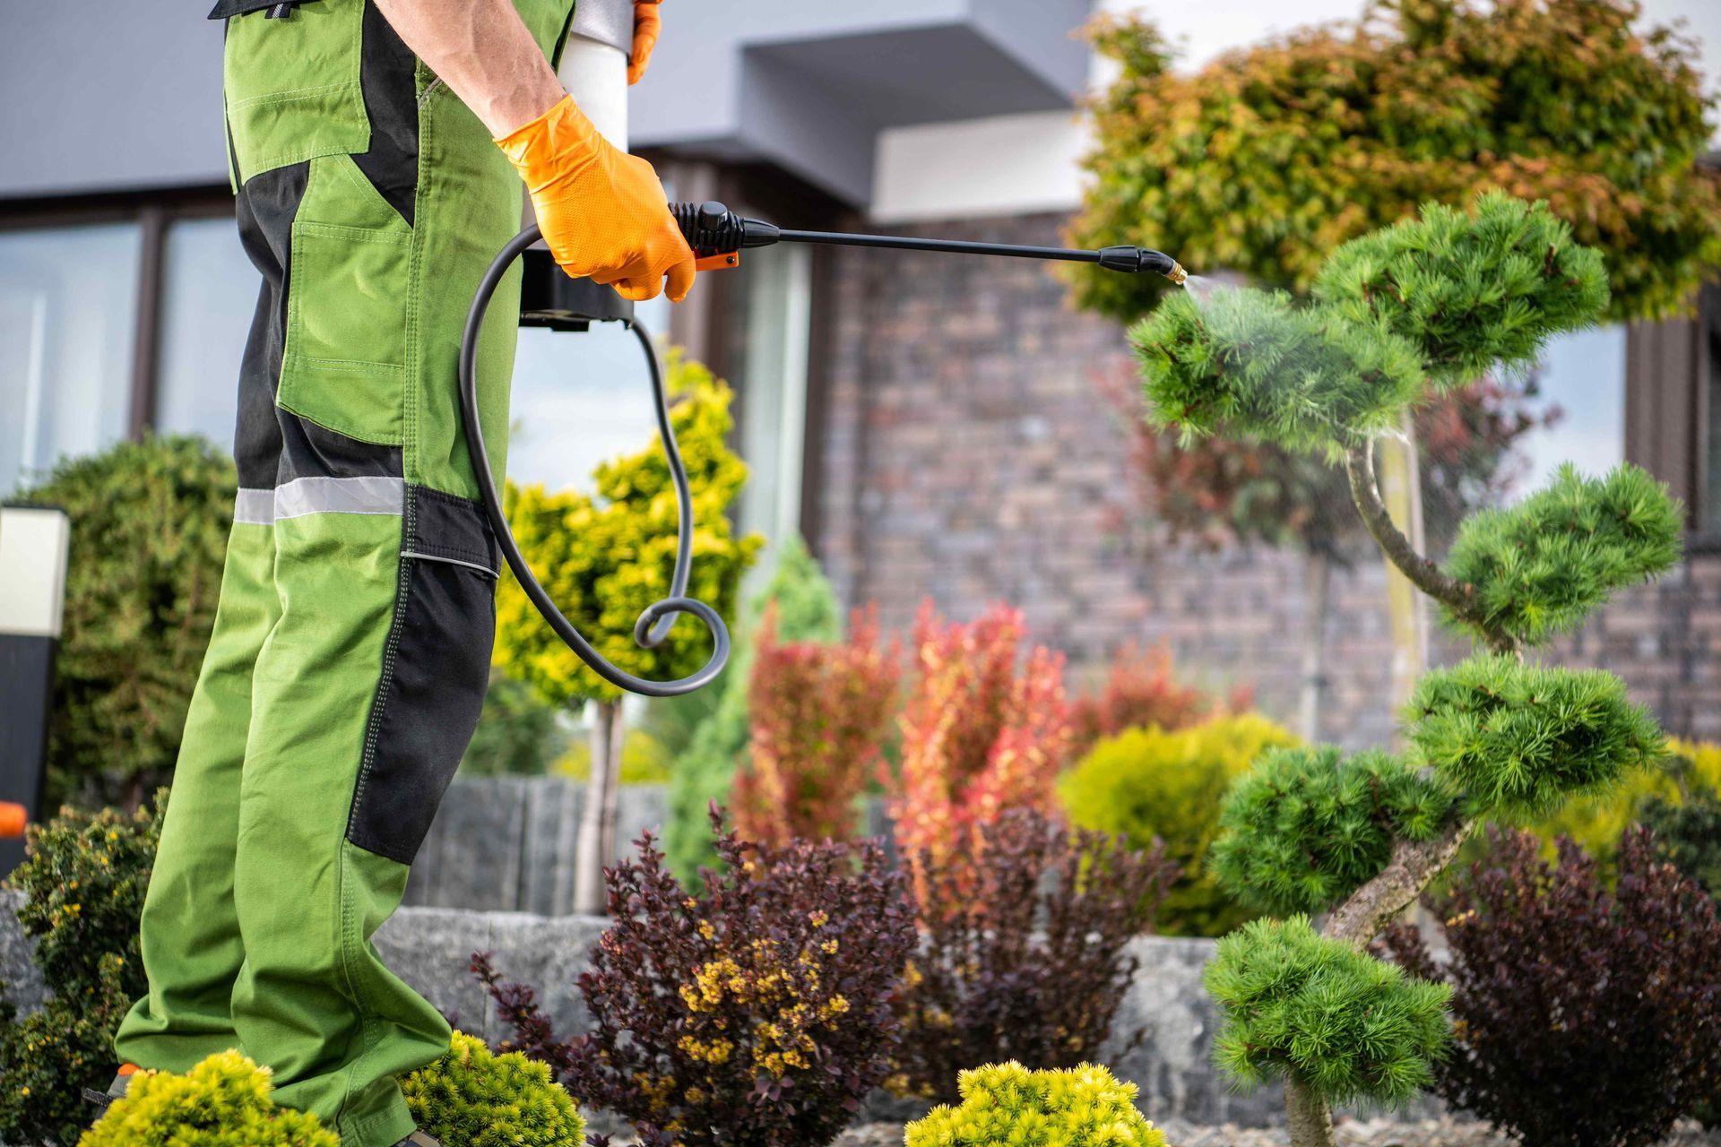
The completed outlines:
{"type": "MultiPolygon", "coordinates": [[[[687,592],[728,619],[742,573],[761,538],[733,537],[728,519],[747,466],[725,444],[730,389],[699,363],[671,354],[664,383],[694,495],[694,567],[687,592]]],[[[656,442],[597,468],[595,497],[578,490],[508,485],[508,524],[532,573],[599,653],[642,678],[680,678],[711,655],[711,636],[683,617],[654,648],[633,641],[633,623],[669,595],[675,571],[676,500],[669,464],[656,442]]],[[[621,765],[621,690],[592,672],[539,617],[504,571],[496,595],[496,666],[532,684],[551,705],[597,703],[592,772],[575,846],[575,911],[604,910],[602,865],[613,851],[616,774],[621,765]]]]}

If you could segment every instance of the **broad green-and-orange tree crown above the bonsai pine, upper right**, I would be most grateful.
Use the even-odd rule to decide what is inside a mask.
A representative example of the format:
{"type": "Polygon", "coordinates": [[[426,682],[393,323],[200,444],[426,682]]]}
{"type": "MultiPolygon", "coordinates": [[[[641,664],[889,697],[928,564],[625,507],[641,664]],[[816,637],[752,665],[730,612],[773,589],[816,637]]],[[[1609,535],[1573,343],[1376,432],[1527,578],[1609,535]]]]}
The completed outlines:
{"type": "MultiPolygon", "coordinates": [[[[1501,187],[1549,199],[1607,258],[1609,316],[1688,306],[1721,263],[1697,46],[1630,0],[1384,0],[1172,67],[1143,21],[1101,24],[1077,246],[1144,242],[1196,272],[1308,291],[1339,244],[1501,187]]],[[[1287,9],[1289,12],[1289,9],[1287,9]]],[[[1081,306],[1144,315],[1153,275],[1070,268],[1081,306]]]]}

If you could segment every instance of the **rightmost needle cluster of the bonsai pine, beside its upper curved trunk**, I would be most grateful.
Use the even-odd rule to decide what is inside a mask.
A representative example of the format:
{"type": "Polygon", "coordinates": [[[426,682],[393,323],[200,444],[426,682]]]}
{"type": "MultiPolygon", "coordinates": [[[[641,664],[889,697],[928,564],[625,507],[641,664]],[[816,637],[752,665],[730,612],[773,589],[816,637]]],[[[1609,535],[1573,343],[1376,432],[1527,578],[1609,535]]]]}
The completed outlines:
{"type": "MultiPolygon", "coordinates": [[[[1468,518],[1444,569],[1475,588],[1490,633],[1540,645],[1575,629],[1614,590],[1680,561],[1681,533],[1680,504],[1637,466],[1585,478],[1564,464],[1547,488],[1516,506],[1468,518]]],[[[1451,610],[1446,616],[1484,636],[1451,610]]]]}

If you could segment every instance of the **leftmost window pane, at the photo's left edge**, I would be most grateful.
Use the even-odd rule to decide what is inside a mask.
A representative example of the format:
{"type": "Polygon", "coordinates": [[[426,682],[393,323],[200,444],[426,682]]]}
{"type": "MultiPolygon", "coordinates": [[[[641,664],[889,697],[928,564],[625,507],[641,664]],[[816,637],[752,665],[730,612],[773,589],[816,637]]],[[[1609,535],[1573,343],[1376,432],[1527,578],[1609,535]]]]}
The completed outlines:
{"type": "Polygon", "coordinates": [[[0,492],[126,435],[136,224],[0,232],[0,492]]]}

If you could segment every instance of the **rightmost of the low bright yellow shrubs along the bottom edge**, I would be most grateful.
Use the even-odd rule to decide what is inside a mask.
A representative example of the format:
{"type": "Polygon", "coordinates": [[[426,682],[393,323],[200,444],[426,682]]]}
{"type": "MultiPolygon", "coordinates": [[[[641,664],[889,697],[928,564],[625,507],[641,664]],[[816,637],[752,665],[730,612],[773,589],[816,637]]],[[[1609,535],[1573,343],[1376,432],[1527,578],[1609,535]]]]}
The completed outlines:
{"type": "Polygon", "coordinates": [[[959,1090],[959,1106],[902,1128],[905,1147],[1165,1147],[1136,1107],[1136,1085],[1095,1064],[996,1063],[964,1071],[959,1090]]]}

